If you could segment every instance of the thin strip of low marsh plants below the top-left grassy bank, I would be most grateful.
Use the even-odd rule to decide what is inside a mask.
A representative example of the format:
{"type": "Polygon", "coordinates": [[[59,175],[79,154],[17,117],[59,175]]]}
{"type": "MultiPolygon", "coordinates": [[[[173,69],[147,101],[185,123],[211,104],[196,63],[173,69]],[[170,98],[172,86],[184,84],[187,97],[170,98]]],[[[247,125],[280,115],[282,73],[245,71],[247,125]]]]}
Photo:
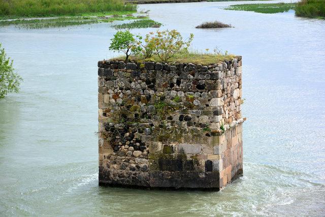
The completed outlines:
{"type": "Polygon", "coordinates": [[[110,16],[110,17],[58,17],[45,19],[14,19],[0,20],[0,27],[15,25],[18,28],[49,28],[72,25],[84,25],[101,22],[113,22],[116,20],[144,19],[135,16],[110,16]]]}

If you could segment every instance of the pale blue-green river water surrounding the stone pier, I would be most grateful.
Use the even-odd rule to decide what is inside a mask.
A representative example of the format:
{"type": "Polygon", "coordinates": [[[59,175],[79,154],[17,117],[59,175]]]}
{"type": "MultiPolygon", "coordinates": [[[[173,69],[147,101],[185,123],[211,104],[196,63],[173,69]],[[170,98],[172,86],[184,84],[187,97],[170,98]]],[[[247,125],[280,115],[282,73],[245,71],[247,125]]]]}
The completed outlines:
{"type": "Polygon", "coordinates": [[[324,215],[325,21],[230,4],[140,6],[193,49],[243,56],[244,176],[221,192],[99,187],[96,64],[115,29],[0,28],[24,78],[0,100],[0,215],[324,215]],[[194,28],[213,20],[234,28],[194,28]]]}

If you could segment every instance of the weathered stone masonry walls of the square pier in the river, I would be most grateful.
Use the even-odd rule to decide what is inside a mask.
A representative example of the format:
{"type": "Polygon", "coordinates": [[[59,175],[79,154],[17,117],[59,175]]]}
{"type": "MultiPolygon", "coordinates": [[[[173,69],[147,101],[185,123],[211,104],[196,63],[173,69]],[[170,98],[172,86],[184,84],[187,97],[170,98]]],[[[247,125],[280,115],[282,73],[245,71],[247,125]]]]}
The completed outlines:
{"type": "Polygon", "coordinates": [[[241,56],[98,62],[99,183],[219,190],[241,176],[241,56]]]}

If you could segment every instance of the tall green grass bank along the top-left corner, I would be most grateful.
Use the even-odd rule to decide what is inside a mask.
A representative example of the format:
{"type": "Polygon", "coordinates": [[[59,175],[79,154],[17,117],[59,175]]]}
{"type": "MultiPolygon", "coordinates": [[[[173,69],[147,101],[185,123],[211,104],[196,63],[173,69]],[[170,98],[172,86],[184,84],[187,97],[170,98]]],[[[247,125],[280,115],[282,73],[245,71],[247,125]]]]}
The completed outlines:
{"type": "Polygon", "coordinates": [[[43,17],[137,10],[121,0],[0,0],[0,16],[43,17]]]}

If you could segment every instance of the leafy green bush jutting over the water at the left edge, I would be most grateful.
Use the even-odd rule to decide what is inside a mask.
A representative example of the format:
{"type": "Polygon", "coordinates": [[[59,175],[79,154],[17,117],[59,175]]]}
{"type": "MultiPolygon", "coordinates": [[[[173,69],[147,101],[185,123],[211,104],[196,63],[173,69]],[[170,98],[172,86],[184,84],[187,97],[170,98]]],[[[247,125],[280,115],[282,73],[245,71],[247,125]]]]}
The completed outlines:
{"type": "Polygon", "coordinates": [[[14,72],[13,60],[7,58],[0,44],[0,98],[4,98],[8,92],[18,92],[21,81],[22,78],[14,72]]]}

